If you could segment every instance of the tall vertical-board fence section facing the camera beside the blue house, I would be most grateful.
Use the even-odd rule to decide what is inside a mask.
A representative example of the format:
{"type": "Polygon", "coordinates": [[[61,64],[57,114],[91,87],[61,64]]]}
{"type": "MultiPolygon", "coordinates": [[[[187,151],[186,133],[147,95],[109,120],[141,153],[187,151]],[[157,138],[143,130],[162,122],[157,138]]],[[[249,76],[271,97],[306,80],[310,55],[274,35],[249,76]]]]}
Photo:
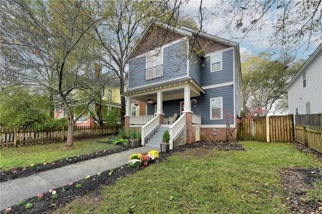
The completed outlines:
{"type": "Polygon", "coordinates": [[[237,125],[237,140],[292,142],[293,115],[243,118],[237,125]]]}

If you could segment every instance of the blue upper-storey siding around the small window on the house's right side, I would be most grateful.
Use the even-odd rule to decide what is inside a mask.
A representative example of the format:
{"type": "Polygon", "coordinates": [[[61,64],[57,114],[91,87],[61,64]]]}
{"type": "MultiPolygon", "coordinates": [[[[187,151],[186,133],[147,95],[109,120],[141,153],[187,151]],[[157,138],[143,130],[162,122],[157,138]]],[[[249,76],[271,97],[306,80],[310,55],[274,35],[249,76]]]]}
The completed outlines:
{"type": "Polygon", "coordinates": [[[232,82],[233,80],[233,50],[222,52],[222,70],[210,72],[210,57],[201,62],[201,86],[232,82]]]}

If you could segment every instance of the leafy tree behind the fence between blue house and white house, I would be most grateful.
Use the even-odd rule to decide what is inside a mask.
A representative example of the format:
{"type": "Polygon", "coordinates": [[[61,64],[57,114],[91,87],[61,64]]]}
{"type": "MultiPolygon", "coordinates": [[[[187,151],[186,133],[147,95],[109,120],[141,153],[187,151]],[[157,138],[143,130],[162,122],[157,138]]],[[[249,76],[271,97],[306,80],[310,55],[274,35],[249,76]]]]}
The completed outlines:
{"type": "MultiPolygon", "coordinates": [[[[284,61],[272,60],[272,56],[267,53],[246,57],[241,63],[241,105],[244,112],[264,109],[268,113],[274,103],[287,103],[285,87],[303,63],[291,63],[292,61],[293,58],[285,58],[284,61]]],[[[287,105],[277,105],[276,108],[285,110],[287,105]]]]}

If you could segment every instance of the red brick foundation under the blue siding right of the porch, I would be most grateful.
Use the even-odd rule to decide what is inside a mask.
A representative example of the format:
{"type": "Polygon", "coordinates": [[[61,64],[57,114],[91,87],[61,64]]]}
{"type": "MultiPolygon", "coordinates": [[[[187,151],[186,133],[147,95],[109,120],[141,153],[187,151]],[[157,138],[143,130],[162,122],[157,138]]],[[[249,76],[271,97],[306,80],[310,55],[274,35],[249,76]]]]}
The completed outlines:
{"type": "MultiPolygon", "coordinates": [[[[236,138],[236,131],[233,132],[231,140],[236,138]]],[[[201,128],[200,140],[225,141],[226,128],[201,128]]]]}

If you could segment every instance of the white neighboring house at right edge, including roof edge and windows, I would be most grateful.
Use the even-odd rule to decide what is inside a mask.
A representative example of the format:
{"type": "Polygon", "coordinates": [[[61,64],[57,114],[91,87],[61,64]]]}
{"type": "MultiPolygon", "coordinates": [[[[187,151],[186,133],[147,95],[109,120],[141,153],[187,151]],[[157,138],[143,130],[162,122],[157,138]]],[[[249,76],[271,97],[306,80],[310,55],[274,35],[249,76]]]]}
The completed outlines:
{"type": "Polygon", "coordinates": [[[322,113],[322,43],[297,71],[286,89],[289,114],[322,113]]]}

